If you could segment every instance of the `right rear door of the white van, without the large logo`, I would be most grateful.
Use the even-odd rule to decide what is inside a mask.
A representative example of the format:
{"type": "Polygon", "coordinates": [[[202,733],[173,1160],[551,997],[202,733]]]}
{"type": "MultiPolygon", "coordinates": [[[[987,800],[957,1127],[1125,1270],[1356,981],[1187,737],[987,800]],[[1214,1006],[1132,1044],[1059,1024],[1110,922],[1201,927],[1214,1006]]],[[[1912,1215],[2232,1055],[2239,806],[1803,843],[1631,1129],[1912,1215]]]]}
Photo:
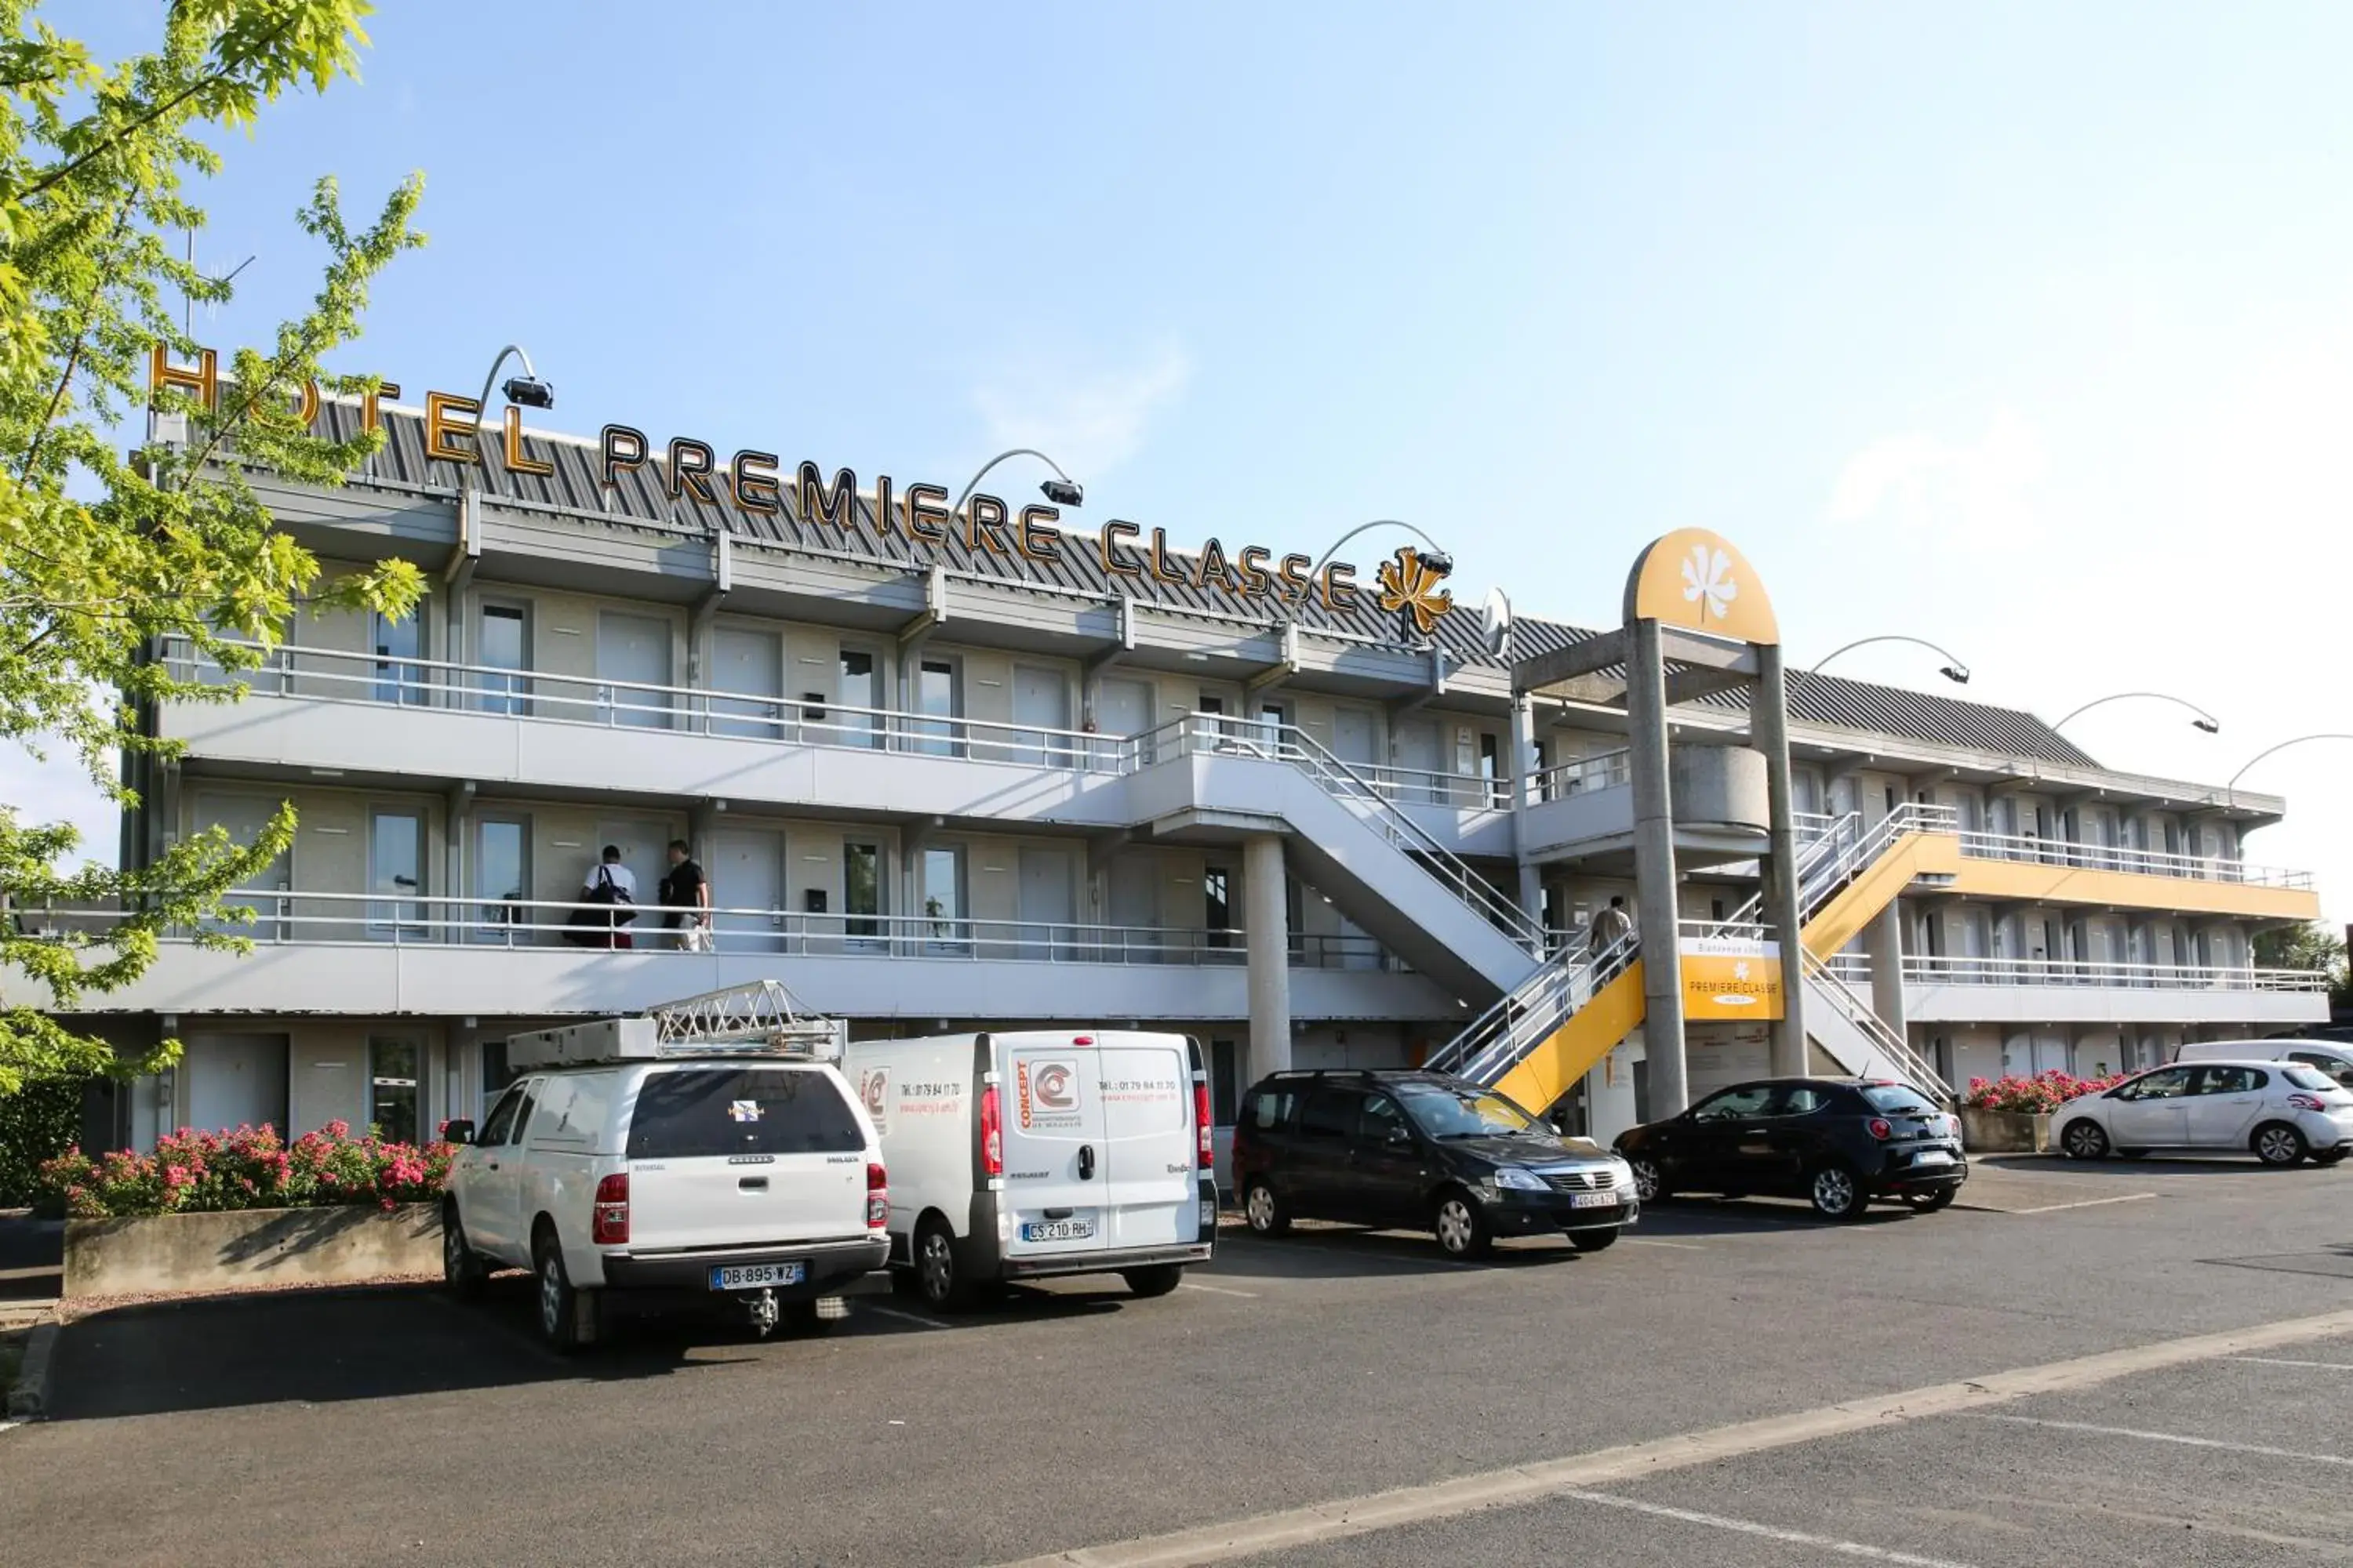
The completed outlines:
{"type": "Polygon", "coordinates": [[[1108,1246],[1200,1237],[1193,1060],[1181,1034],[1104,1034],[1104,1204],[1108,1246]]]}

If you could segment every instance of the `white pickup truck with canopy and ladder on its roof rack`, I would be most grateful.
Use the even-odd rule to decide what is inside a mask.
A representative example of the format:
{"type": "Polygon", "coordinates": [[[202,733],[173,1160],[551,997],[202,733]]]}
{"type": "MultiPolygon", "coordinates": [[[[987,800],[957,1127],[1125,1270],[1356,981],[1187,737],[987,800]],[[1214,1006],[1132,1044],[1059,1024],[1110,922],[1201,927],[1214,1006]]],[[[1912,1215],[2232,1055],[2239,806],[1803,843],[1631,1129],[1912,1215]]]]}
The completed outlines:
{"type": "Polygon", "coordinates": [[[558,1352],[598,1338],[607,1291],[739,1302],[824,1328],[889,1288],[882,1140],[831,1060],[656,1046],[649,1018],[508,1041],[539,1063],[464,1145],[442,1197],[442,1274],[475,1295],[499,1267],[539,1276],[558,1352]]]}

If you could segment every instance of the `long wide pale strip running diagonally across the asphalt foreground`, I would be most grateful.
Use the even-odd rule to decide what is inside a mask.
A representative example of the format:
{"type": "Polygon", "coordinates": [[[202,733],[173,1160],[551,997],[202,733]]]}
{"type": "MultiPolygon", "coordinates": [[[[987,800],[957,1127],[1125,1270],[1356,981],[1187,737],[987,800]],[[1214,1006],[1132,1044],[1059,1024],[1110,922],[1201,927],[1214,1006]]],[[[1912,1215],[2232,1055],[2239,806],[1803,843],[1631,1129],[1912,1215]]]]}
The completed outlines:
{"type": "MultiPolygon", "coordinates": [[[[2172,1366],[2198,1361],[2226,1361],[2231,1356],[2278,1349],[2282,1345],[2308,1345],[2353,1333],[2353,1312],[2327,1312],[2320,1316],[2282,1319],[2252,1328],[2224,1333],[2200,1333],[2181,1340],[2158,1340],[2155,1345],[2132,1345],[2127,1349],[2075,1356],[2071,1361],[2045,1361],[2042,1366],[2019,1366],[2002,1373],[1986,1373],[1962,1382],[1939,1382],[1922,1389],[1864,1396],[1788,1415],[1711,1427],[1704,1432],[1678,1432],[1675,1436],[1647,1443],[1624,1443],[1572,1453],[1558,1460],[1532,1460],[1501,1469],[1473,1472],[1447,1481],[1424,1481],[1398,1486],[1384,1493],[1358,1497],[1329,1497],[1304,1507],[1275,1509],[1271,1514],[1245,1514],[1212,1523],[1144,1535],[1139,1540],[1104,1542],[1092,1547],[1066,1547],[1031,1556],[1007,1568],[1195,1568],[1200,1563],[1231,1563],[1242,1556],[1266,1556],[1308,1547],[1348,1535],[1369,1535],[1398,1526],[1431,1519],[1461,1519],[1494,1507],[1520,1507],[1544,1502],[1567,1493],[1617,1486],[1645,1476],[1659,1476],[1713,1460],[1793,1448],[1854,1432],[1887,1432],[1932,1415],[1965,1415],[2012,1399],[2038,1394],[2064,1394],[2097,1387],[2118,1378],[2134,1378],[2172,1366]]],[[[2228,1443],[2224,1443],[2228,1446],[2228,1443]]],[[[2337,1460],[2348,1462],[2348,1460],[2337,1460]]],[[[1609,1502],[1624,1505],[1624,1500],[1609,1502]]],[[[1631,1505],[1626,1505],[1631,1507],[1631,1505]]],[[[1922,1563],[1927,1559],[1880,1559],[1922,1563]]]]}

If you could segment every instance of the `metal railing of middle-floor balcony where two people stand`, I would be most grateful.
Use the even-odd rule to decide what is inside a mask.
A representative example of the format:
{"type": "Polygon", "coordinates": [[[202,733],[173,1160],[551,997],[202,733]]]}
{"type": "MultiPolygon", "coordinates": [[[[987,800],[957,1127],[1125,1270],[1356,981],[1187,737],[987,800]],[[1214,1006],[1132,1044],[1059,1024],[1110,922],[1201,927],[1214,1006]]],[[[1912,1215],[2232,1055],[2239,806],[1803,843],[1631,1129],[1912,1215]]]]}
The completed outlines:
{"type": "MultiPolygon", "coordinates": [[[[224,907],[249,910],[252,919],[207,926],[268,945],[398,945],[398,947],[614,947],[616,933],[631,950],[685,950],[687,933],[664,926],[659,905],[631,905],[635,919],[614,926],[614,905],[548,898],[445,898],[419,893],[315,893],[299,889],[245,889],[224,907]]],[[[101,907],[12,910],[21,936],[104,936],[120,919],[101,907]]],[[[174,931],[186,938],[193,931],[174,931]]],[[[706,952],[722,954],[828,954],[896,959],[969,959],[991,964],[1247,964],[1249,938],[1240,929],[1200,926],[1106,926],[1052,919],[969,919],[939,914],[809,914],[802,910],[711,910],[706,952]]],[[[1369,936],[1289,936],[1294,969],[1402,971],[1369,936]]]]}

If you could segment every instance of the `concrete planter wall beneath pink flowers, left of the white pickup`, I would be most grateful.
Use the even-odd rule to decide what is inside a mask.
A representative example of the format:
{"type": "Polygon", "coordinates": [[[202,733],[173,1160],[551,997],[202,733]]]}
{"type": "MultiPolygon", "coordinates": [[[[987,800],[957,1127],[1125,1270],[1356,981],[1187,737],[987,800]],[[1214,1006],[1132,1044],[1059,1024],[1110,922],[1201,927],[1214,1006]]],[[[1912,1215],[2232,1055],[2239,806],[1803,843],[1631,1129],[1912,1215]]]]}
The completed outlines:
{"type": "Polygon", "coordinates": [[[68,1298],[320,1286],[435,1272],[435,1204],[66,1220],[68,1298]]]}

